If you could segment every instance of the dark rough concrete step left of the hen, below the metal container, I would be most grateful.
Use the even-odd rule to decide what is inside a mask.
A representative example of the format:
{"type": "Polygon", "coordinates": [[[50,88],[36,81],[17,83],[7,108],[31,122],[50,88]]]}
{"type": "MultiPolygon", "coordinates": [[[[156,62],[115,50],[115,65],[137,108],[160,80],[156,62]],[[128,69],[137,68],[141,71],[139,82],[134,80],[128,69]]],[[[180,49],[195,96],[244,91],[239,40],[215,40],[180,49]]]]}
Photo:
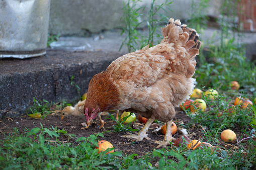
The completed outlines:
{"type": "MultiPolygon", "coordinates": [[[[71,77],[81,91],[87,92],[91,78],[105,70],[120,57],[111,52],[64,52],[48,50],[47,56],[0,62],[0,110],[24,113],[33,106],[33,98],[42,101],[59,102],[78,99],[78,93],[71,86],[71,77]]],[[[19,116],[0,111],[1,116],[19,116]]]]}

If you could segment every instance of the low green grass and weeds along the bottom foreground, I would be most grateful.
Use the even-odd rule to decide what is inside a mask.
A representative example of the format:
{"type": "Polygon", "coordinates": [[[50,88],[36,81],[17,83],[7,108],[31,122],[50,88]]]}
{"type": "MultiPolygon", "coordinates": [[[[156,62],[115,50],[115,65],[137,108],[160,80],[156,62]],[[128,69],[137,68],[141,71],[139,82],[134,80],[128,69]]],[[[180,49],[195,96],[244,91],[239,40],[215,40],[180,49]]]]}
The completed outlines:
{"type": "MultiPolygon", "coordinates": [[[[122,152],[105,154],[112,149],[98,153],[95,147],[97,137],[102,133],[93,134],[89,137],[79,137],[78,144],[49,142],[58,140],[59,135],[66,135],[64,129],[56,128],[34,128],[27,130],[25,134],[20,134],[17,129],[1,141],[0,164],[3,169],[247,169],[256,165],[254,152],[256,142],[248,140],[250,143],[243,155],[244,148],[233,152],[233,149],[197,148],[195,150],[183,147],[167,147],[156,149],[145,154],[141,158],[135,158],[137,154],[124,155],[122,152]],[[48,137],[47,137],[48,136],[48,137]],[[242,150],[243,149],[243,150],[242,150]],[[158,159],[159,168],[151,164],[150,161],[158,159]]],[[[75,137],[75,135],[72,135],[75,137]]]]}

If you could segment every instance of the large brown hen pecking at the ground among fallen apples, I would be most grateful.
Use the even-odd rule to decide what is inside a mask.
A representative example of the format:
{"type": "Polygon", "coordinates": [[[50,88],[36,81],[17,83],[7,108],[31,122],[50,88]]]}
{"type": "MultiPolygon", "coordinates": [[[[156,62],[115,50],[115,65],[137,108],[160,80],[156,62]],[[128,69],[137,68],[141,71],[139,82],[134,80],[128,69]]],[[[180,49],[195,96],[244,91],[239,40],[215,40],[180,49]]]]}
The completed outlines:
{"type": "Polygon", "coordinates": [[[105,110],[135,112],[148,121],[137,135],[122,137],[150,140],[146,131],[157,119],[166,122],[166,134],[157,147],[169,144],[175,107],[187,100],[194,88],[192,76],[201,42],[196,30],[173,18],[162,34],[160,44],[119,57],[92,78],[84,105],[88,123],[105,110]]]}

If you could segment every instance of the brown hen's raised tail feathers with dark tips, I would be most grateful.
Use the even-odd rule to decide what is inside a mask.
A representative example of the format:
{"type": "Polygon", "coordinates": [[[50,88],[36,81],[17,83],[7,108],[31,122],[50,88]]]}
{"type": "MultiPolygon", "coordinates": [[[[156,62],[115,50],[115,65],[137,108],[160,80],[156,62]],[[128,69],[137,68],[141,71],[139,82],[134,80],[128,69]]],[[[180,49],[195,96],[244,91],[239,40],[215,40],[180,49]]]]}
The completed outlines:
{"type": "Polygon", "coordinates": [[[189,61],[187,77],[192,77],[196,66],[194,59],[199,54],[201,47],[197,31],[188,28],[186,24],[181,25],[180,20],[174,21],[173,18],[170,18],[167,26],[162,28],[162,35],[162,42],[174,43],[187,50],[188,55],[186,55],[186,58],[189,61]]]}

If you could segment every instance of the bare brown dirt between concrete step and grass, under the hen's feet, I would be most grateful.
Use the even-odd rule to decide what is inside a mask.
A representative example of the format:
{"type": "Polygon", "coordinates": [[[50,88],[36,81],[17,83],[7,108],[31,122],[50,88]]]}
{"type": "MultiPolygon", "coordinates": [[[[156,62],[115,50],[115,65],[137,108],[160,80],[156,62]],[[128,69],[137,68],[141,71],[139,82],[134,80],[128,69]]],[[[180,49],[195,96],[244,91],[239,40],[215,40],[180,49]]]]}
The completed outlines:
{"type": "MultiPolygon", "coordinates": [[[[115,113],[113,113],[115,116],[115,113]]],[[[42,123],[43,127],[50,128],[51,126],[55,127],[57,126],[58,129],[63,129],[67,131],[67,134],[75,134],[76,137],[88,137],[91,134],[97,134],[99,132],[106,132],[108,130],[113,130],[113,126],[116,124],[115,122],[111,121],[109,118],[109,115],[103,115],[103,120],[106,122],[104,124],[104,128],[99,129],[100,127],[100,121],[99,119],[94,119],[94,123],[88,128],[88,129],[81,129],[83,126],[81,123],[85,122],[86,119],[79,118],[79,117],[65,117],[64,119],[60,118],[60,115],[48,115],[44,119],[33,119],[30,117],[12,117],[11,119],[8,119],[6,117],[0,118],[0,140],[3,140],[8,133],[11,133],[13,131],[13,128],[16,127],[19,129],[20,133],[24,132],[24,129],[28,128],[31,130],[35,127],[41,127],[40,122],[42,123]]],[[[176,117],[174,119],[174,122],[177,124],[178,128],[182,128],[181,124],[186,124],[191,120],[189,116],[186,115],[185,112],[181,110],[177,110],[176,117]]],[[[133,128],[142,128],[142,124],[136,120],[135,123],[132,123],[131,126],[133,128]]],[[[156,125],[157,126],[157,125],[156,125]]],[[[152,140],[162,140],[163,135],[161,134],[160,130],[157,133],[152,132],[157,127],[154,125],[151,125],[148,130],[148,137],[150,137],[152,140]]],[[[200,139],[204,132],[203,127],[200,126],[194,126],[193,128],[187,129],[189,134],[189,138],[191,140],[193,139],[200,139]]],[[[207,129],[205,129],[207,130],[207,129]]],[[[122,135],[127,134],[127,132],[106,132],[104,133],[105,138],[98,137],[100,140],[107,140],[113,144],[115,147],[115,151],[122,151],[123,153],[129,155],[131,153],[138,154],[137,157],[143,156],[145,153],[148,153],[152,151],[154,148],[156,148],[157,144],[153,143],[152,141],[143,139],[142,141],[132,141],[128,138],[120,137],[122,135]]],[[[179,129],[177,132],[173,135],[175,138],[179,138],[182,135],[181,131],[179,129]]],[[[50,139],[50,140],[54,140],[50,139]]],[[[68,137],[66,135],[60,135],[59,137],[60,141],[67,141],[68,137]]],[[[71,138],[69,142],[78,144],[79,142],[75,142],[75,139],[71,138]]],[[[226,148],[232,147],[231,144],[227,145],[224,142],[220,141],[220,144],[222,144],[226,148]]]]}

